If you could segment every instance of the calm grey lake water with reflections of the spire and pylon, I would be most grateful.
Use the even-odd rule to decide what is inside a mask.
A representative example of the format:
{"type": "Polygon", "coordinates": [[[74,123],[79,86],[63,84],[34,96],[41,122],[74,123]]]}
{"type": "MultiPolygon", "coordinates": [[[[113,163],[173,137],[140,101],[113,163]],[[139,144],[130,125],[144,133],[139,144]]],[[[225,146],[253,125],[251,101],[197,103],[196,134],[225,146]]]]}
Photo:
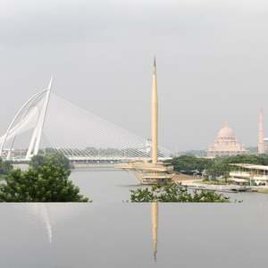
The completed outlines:
{"type": "Polygon", "coordinates": [[[0,267],[264,267],[268,196],[232,204],[127,204],[138,182],[75,171],[88,204],[1,204],[0,267]],[[154,221],[152,220],[154,219],[154,221]]]}

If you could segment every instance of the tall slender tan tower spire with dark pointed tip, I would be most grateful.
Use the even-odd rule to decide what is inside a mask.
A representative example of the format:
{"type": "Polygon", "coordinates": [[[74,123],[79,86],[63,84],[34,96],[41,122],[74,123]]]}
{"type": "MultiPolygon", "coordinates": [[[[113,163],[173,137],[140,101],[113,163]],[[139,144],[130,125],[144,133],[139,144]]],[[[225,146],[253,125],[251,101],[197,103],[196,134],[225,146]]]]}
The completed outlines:
{"type": "Polygon", "coordinates": [[[154,55],[154,73],[152,87],[152,163],[157,163],[158,155],[158,98],[156,84],[156,63],[154,55]]]}

